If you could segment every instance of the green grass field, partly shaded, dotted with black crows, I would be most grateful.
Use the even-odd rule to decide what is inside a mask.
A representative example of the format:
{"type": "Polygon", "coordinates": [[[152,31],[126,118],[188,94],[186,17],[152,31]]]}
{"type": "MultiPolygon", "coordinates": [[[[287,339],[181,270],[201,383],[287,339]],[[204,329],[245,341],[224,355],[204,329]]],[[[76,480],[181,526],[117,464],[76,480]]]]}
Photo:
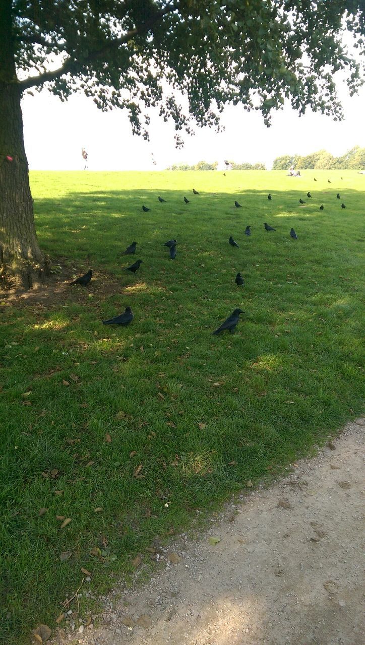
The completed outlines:
{"type": "Polygon", "coordinates": [[[63,277],[48,299],[0,298],[8,645],[39,622],[55,627],[81,568],[99,595],[139,553],[150,560],[153,539],[276,475],[361,412],[365,177],[302,175],[31,174],[39,241],[63,277]],[[175,261],[162,246],[172,237],[175,261]],[[133,240],[135,276],[121,256],[133,240]],[[63,286],[89,268],[88,288],[63,286]],[[130,326],[101,324],[127,305],[130,326]],[[236,307],[235,334],[213,336],[236,307]]]}

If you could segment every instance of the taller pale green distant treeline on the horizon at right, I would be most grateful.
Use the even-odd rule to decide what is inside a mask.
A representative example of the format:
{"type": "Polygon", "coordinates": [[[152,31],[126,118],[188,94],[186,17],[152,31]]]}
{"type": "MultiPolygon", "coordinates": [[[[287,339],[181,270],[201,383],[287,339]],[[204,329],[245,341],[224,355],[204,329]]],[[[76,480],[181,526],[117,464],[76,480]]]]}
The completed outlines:
{"type": "Polygon", "coordinates": [[[288,170],[290,166],[296,170],[365,170],[365,148],[355,146],[342,157],[333,157],[327,150],[319,150],[306,157],[283,155],[274,159],[273,170],[288,170]]]}

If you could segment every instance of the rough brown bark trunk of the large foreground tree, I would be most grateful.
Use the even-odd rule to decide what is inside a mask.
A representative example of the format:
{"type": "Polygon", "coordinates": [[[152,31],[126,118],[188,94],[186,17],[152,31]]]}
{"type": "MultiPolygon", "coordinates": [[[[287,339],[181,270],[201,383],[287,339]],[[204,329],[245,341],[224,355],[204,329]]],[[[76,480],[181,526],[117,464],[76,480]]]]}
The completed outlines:
{"type": "Polygon", "coordinates": [[[47,266],[34,226],[11,6],[0,2],[0,281],[28,289],[44,281],[47,266]]]}

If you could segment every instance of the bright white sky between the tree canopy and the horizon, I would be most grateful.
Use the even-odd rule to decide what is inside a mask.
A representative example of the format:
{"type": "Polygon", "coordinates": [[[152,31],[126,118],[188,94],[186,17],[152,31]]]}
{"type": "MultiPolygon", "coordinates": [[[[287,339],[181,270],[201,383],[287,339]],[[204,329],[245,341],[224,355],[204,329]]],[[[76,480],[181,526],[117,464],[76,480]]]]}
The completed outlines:
{"type": "Polygon", "coordinates": [[[306,155],[322,148],[338,156],[355,145],[365,147],[365,87],[350,97],[346,83],[337,83],[345,119],[313,114],[299,118],[285,104],[274,112],[270,128],[260,112],[247,113],[241,106],[228,106],[221,117],[225,132],[197,128],[194,137],[184,136],[182,150],[175,148],[172,123],[164,123],[150,110],[150,139],[133,136],[126,112],[101,112],[83,94],[62,103],[43,90],[23,98],[25,146],[31,170],[82,170],[83,146],[90,170],[164,170],[175,163],[193,164],[204,159],[236,163],[266,163],[283,154],[306,155]],[[152,154],[157,163],[152,164],[152,154]]]}

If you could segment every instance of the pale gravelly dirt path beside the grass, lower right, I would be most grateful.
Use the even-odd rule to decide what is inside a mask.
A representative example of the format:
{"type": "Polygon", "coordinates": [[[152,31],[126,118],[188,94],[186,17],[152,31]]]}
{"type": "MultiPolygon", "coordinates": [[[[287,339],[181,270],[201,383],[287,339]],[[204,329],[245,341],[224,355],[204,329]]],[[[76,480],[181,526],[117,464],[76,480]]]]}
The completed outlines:
{"type": "Polygon", "coordinates": [[[152,581],[139,590],[115,591],[101,626],[75,624],[66,641],[364,643],[364,426],[364,419],[348,424],[331,448],[293,466],[286,479],[242,496],[201,540],[183,535],[160,550],[163,569],[152,581]],[[212,546],[209,537],[220,541],[212,546]],[[168,562],[169,553],[180,561],[168,562]]]}

